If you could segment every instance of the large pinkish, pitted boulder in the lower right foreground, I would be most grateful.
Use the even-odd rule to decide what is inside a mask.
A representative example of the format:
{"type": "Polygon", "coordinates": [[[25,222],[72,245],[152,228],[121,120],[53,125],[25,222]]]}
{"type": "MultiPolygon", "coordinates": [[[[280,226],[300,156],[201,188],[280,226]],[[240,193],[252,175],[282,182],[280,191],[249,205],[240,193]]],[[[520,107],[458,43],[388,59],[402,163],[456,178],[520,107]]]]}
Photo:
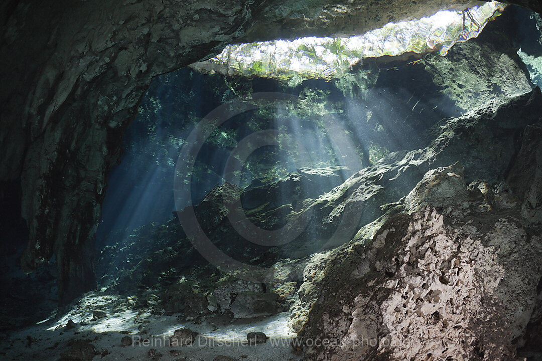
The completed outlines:
{"type": "Polygon", "coordinates": [[[309,262],[310,311],[292,316],[306,359],[515,357],[540,307],[542,229],[506,195],[487,211],[462,172],[431,170],[404,207],[309,262]]]}

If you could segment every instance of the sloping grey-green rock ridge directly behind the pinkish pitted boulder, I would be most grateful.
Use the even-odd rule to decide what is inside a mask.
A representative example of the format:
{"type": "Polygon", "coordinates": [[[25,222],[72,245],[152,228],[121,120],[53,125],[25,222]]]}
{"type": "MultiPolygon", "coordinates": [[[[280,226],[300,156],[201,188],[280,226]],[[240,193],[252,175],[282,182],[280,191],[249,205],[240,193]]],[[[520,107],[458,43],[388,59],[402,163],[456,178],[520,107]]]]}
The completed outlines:
{"type": "MultiPolygon", "coordinates": [[[[510,174],[518,140],[527,126],[540,124],[540,111],[542,94],[535,88],[444,120],[434,127],[434,139],[427,147],[383,157],[331,192],[307,200],[294,216],[310,214],[312,227],[319,229],[320,244],[331,249],[352,239],[360,227],[383,215],[389,207],[386,205],[406,196],[425,173],[436,167],[460,162],[468,183],[483,179],[495,185],[510,174]]],[[[528,144],[525,147],[534,147],[528,144]]],[[[534,183],[537,181],[538,178],[533,179],[534,183]]],[[[301,233],[293,228],[291,231],[301,233]]]]}

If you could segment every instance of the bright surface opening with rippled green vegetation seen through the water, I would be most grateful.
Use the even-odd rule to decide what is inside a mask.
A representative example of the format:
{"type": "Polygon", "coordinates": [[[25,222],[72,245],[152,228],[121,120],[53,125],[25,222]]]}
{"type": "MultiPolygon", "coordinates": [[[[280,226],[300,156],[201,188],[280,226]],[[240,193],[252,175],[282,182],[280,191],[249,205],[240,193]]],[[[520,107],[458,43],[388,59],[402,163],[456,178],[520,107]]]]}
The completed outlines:
{"type": "Polygon", "coordinates": [[[487,21],[498,16],[505,6],[488,2],[464,12],[440,11],[415,21],[389,23],[363,36],[349,38],[305,37],[229,45],[208,62],[191,67],[202,72],[286,81],[294,77],[340,79],[348,76],[350,66],[363,58],[431,51],[446,55],[456,42],[478,36],[487,21]],[[480,23],[474,18],[480,19],[480,23]]]}

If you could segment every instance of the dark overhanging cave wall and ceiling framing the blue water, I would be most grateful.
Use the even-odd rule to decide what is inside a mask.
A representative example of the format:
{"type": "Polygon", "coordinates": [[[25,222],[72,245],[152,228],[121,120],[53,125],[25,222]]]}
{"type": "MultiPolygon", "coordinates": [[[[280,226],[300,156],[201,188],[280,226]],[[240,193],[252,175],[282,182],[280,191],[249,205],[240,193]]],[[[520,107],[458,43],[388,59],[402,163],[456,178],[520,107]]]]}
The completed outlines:
{"type": "Polygon", "coordinates": [[[213,56],[245,35],[266,40],[361,34],[452,2],[418,1],[416,11],[404,0],[322,4],[13,0],[0,5],[0,182],[21,184],[20,204],[5,207],[21,206],[28,225],[23,270],[35,270],[55,253],[61,301],[94,285],[94,233],[106,176],[119,160],[122,131],[152,77],[213,56]]]}

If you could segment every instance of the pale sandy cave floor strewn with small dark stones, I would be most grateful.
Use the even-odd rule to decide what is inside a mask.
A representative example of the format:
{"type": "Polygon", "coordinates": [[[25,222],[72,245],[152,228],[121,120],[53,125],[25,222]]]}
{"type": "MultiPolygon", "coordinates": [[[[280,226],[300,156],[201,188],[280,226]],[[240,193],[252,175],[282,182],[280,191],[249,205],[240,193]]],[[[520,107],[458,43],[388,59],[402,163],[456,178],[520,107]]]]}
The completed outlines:
{"type": "Polygon", "coordinates": [[[57,360],[75,340],[84,340],[94,346],[96,356],[75,358],[85,360],[212,361],[216,356],[247,361],[300,359],[292,352],[291,342],[296,335],[287,326],[286,312],[233,322],[220,315],[211,315],[198,323],[189,323],[178,321],[176,316],[127,310],[125,305],[125,300],[115,296],[87,294],[73,310],[2,337],[0,359],[57,360]],[[107,316],[93,319],[96,309],[105,310],[107,316]],[[65,329],[68,320],[76,324],[73,329],[65,329]],[[171,344],[169,337],[183,328],[199,335],[190,346],[171,344]],[[264,344],[248,345],[248,332],[264,332],[269,340],[264,344]],[[130,337],[134,344],[123,346],[122,337],[130,337]]]}

